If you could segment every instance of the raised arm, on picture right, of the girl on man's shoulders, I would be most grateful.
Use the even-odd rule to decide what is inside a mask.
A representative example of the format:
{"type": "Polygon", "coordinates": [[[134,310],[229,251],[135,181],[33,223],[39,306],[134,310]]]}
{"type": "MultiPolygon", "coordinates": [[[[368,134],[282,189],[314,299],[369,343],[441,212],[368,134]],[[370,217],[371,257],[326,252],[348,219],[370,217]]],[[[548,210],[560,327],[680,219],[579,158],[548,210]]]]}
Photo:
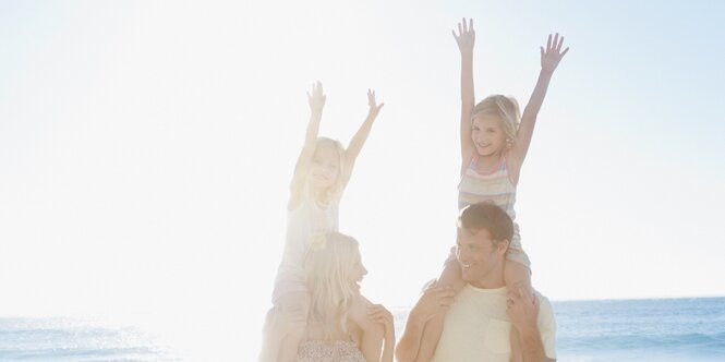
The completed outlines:
{"type": "Polygon", "coordinates": [[[544,97],[546,96],[546,89],[548,88],[548,83],[552,80],[552,74],[554,70],[564,58],[564,55],[569,51],[569,48],[561,51],[561,46],[564,45],[564,37],[559,38],[557,33],[554,36],[552,41],[552,35],[548,35],[546,40],[546,49],[541,47],[541,72],[539,73],[539,81],[534,87],[534,92],[531,94],[531,99],[527,104],[527,108],[523,109],[523,114],[521,116],[521,124],[519,125],[519,131],[517,134],[516,146],[511,149],[510,159],[511,167],[513,167],[515,179],[518,180],[519,171],[521,170],[521,165],[523,159],[527,157],[527,152],[529,152],[529,145],[531,145],[531,137],[534,132],[534,125],[536,123],[536,116],[539,110],[541,110],[541,105],[544,102],[544,97]]]}

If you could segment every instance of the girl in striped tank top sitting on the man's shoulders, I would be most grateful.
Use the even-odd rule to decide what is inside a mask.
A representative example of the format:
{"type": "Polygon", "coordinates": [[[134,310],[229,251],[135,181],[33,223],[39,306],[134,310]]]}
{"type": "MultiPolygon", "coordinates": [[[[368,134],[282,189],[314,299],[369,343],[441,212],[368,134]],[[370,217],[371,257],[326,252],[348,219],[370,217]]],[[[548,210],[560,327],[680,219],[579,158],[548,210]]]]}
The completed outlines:
{"type": "MultiPolygon", "coordinates": [[[[549,34],[546,48],[541,47],[541,72],[529,104],[519,118],[516,99],[493,95],[474,104],[473,93],[473,45],[475,32],[473,20],[463,19],[458,24],[458,34],[454,37],[461,52],[461,181],[458,185],[459,209],[473,203],[491,201],[504,208],[511,219],[516,213],[516,185],[519,182],[521,165],[529,150],[536,114],[546,95],[552,74],[569,48],[561,51],[564,37],[549,34]],[[520,123],[519,123],[520,120],[520,123]]],[[[510,289],[522,286],[531,288],[531,263],[521,249],[519,226],[515,222],[513,240],[506,255],[505,279],[510,289]]],[[[449,257],[440,275],[438,285],[452,285],[457,290],[462,287],[460,265],[449,257]]],[[[435,351],[435,345],[443,330],[443,316],[425,327],[427,343],[421,348],[419,360],[428,360],[435,351]]],[[[520,348],[516,330],[511,328],[511,349],[513,360],[519,360],[520,348]]]]}

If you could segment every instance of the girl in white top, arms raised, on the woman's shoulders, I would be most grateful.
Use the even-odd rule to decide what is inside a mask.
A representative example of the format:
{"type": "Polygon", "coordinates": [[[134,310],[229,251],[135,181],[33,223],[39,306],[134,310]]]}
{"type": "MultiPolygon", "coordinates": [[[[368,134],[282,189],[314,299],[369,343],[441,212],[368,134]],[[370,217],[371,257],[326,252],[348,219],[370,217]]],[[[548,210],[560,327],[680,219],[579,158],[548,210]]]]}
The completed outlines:
{"type": "Polygon", "coordinates": [[[261,360],[265,362],[293,361],[297,355],[310,310],[303,270],[307,238],[314,232],[338,229],[340,196],[384,106],[375,102],[375,92],[367,90],[367,118],[346,149],[338,141],[317,137],[326,99],[319,82],[313,84],[307,99],[310,123],[292,177],[285,251],[273,291],[274,306],[264,328],[261,360]]]}

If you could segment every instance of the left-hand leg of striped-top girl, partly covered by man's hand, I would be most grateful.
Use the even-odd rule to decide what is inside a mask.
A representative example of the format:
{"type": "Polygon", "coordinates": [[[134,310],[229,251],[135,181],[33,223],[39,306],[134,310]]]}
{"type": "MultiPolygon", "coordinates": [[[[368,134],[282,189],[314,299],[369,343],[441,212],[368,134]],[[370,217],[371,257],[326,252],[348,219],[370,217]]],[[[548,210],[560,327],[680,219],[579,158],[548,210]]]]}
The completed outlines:
{"type": "MultiPolygon", "coordinates": [[[[436,286],[451,286],[456,291],[460,290],[462,286],[461,267],[452,249],[436,286]]],[[[421,348],[418,351],[418,361],[430,361],[433,359],[438,339],[440,339],[440,334],[443,333],[444,318],[445,314],[440,314],[425,324],[423,336],[421,337],[421,348]]]]}

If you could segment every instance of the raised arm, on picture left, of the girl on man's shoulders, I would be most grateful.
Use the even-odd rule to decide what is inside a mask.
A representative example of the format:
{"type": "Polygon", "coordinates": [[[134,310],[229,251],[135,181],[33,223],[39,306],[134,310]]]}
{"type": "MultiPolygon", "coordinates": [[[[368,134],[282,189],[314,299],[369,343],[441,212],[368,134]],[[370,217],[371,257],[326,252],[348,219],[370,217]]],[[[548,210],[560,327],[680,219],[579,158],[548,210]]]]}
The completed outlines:
{"type": "Polygon", "coordinates": [[[461,173],[468,166],[471,155],[475,152],[471,140],[471,113],[475,107],[475,95],[473,93],[473,45],[475,44],[475,31],[473,20],[466,23],[466,17],[458,23],[458,35],[451,31],[458,49],[461,51],[461,173]]]}

